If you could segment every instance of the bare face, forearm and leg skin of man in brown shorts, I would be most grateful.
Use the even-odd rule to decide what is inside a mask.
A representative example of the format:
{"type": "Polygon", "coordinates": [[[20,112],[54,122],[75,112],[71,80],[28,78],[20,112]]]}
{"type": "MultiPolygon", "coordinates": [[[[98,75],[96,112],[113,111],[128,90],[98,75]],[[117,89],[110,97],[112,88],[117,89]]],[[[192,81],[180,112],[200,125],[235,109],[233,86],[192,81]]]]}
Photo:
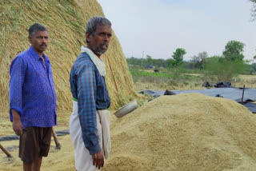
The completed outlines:
{"type": "MultiPolygon", "coordinates": [[[[47,49],[48,45],[48,32],[47,31],[38,31],[29,36],[29,41],[31,46],[36,51],[36,53],[42,58],[44,62],[44,58],[42,57],[43,51],[47,49]]],[[[18,136],[22,135],[22,121],[20,114],[15,109],[11,109],[11,113],[13,114],[13,129],[14,133],[18,136]]],[[[42,164],[42,156],[39,156],[32,163],[23,162],[23,170],[24,171],[39,171],[42,164]]]]}

